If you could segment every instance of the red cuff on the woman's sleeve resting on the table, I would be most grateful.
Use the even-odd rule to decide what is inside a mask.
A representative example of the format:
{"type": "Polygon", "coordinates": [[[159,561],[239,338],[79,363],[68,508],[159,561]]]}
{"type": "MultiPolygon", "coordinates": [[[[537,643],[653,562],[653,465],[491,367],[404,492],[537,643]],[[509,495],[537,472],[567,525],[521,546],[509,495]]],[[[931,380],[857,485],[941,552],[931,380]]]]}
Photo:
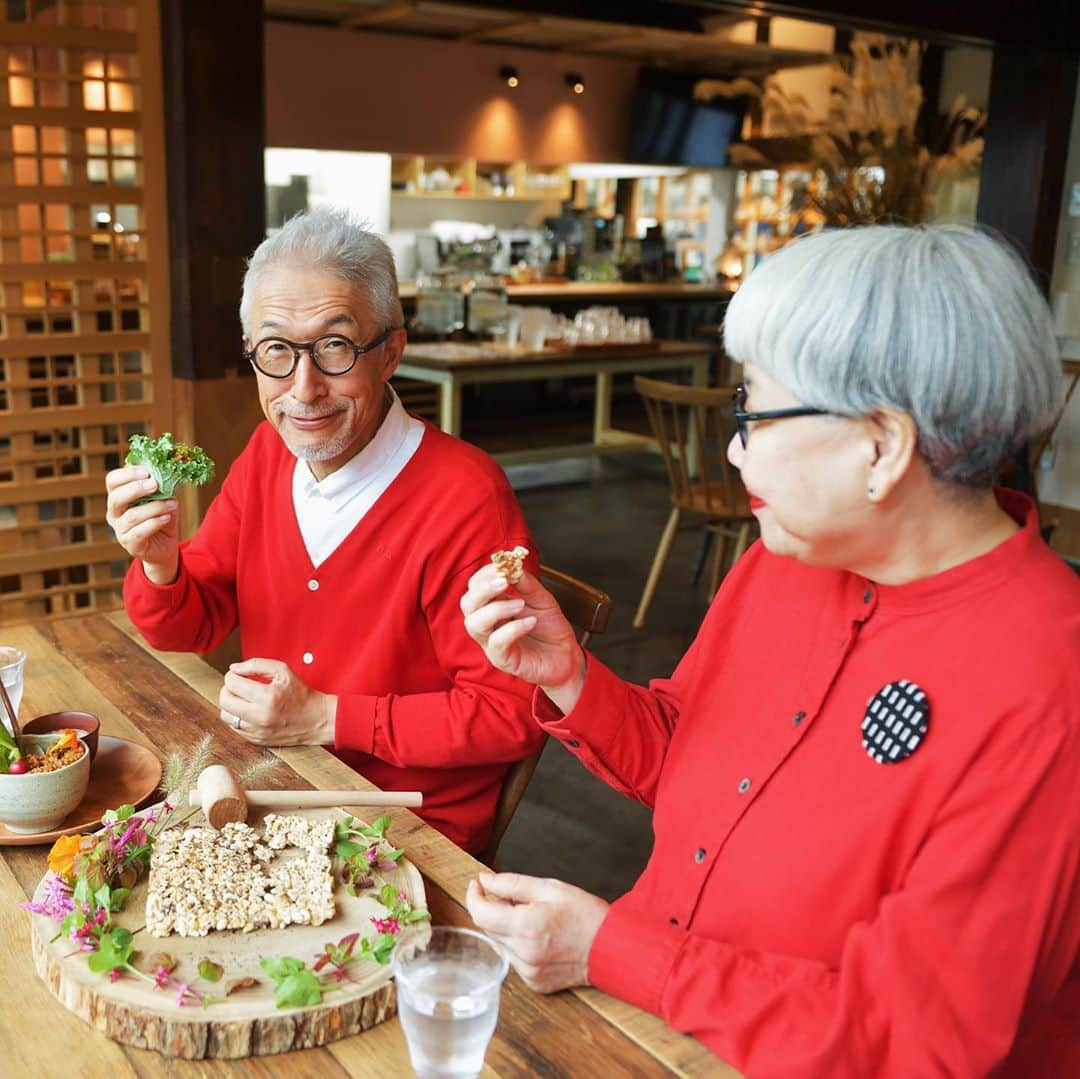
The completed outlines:
{"type": "Polygon", "coordinates": [[[605,993],[663,1014],[664,986],[687,934],[634,912],[617,900],[600,923],[589,953],[589,981],[605,993]],[[627,962],[633,956],[633,962],[627,962]]]}

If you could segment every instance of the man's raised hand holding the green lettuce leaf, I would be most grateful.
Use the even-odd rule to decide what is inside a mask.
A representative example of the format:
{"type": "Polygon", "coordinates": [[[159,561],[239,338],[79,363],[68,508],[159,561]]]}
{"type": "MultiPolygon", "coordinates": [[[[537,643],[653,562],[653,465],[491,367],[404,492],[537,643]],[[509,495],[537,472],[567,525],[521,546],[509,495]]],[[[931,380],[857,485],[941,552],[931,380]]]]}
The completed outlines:
{"type": "Polygon", "coordinates": [[[158,484],[141,466],[113,469],[105,476],[108,505],[105,520],[117,541],[133,557],[141,558],[154,584],[172,584],[179,570],[179,508],[175,499],[134,505],[152,495],[158,484]]]}

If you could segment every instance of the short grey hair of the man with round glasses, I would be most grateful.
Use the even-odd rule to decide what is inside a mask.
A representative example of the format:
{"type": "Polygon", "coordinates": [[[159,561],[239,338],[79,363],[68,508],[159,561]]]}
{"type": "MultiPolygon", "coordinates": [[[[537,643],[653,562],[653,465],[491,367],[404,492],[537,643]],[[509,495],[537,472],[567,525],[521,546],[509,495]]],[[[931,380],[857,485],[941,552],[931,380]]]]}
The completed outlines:
{"type": "Polygon", "coordinates": [[[401,326],[405,321],[390,248],[347,211],[321,207],[289,218],[247,260],[240,324],[248,337],[254,293],[266,272],[280,265],[315,267],[360,285],[372,305],[372,316],[380,326],[401,326]]]}

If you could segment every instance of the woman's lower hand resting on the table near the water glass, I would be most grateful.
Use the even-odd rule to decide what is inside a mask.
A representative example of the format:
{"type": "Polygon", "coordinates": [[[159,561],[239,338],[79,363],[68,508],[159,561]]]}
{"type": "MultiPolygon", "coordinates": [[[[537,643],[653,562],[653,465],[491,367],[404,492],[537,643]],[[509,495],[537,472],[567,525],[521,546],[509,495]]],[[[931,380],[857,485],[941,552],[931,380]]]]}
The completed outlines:
{"type": "Polygon", "coordinates": [[[499,941],[514,970],[539,993],[589,985],[589,953],[607,916],[598,895],[562,880],[481,873],[469,881],[473,921],[499,941]]]}

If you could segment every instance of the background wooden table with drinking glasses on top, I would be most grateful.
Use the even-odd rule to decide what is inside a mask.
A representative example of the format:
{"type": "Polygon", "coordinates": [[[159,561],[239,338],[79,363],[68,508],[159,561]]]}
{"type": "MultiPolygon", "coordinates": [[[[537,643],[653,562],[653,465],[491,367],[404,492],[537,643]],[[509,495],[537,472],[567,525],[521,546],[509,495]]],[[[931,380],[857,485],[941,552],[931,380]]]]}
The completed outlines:
{"type": "Polygon", "coordinates": [[[550,460],[554,457],[579,457],[653,444],[646,435],[611,427],[611,382],[617,374],[654,374],[689,370],[694,386],[708,385],[708,349],[681,341],[650,341],[629,347],[524,348],[484,343],[440,341],[434,345],[408,345],[397,366],[397,374],[440,388],[438,426],[461,436],[462,387],[485,382],[526,382],[546,378],[592,375],[596,379],[593,409],[593,441],[565,446],[497,454],[502,464],[550,460]]]}

